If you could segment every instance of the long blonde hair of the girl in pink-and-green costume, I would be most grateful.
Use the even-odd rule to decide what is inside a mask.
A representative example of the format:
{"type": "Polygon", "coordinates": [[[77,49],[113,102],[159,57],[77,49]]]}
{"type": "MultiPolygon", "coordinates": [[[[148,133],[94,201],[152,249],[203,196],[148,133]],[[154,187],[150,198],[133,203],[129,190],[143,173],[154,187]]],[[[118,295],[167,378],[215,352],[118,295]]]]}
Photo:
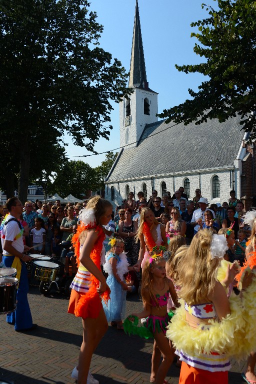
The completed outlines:
{"type": "MultiPolygon", "coordinates": [[[[153,259],[151,263],[149,263],[149,258],[145,261],[144,267],[142,269],[142,279],[141,279],[141,297],[143,301],[143,306],[145,305],[152,305],[152,302],[155,304],[155,306],[158,308],[159,303],[158,300],[156,300],[155,295],[153,293],[153,286],[152,286],[152,268],[156,266],[160,261],[165,261],[162,256],[158,256],[153,259]],[[147,297],[145,296],[145,292],[149,293],[150,301],[147,301],[147,297]]],[[[166,281],[168,281],[167,277],[164,277],[166,281]]]]}

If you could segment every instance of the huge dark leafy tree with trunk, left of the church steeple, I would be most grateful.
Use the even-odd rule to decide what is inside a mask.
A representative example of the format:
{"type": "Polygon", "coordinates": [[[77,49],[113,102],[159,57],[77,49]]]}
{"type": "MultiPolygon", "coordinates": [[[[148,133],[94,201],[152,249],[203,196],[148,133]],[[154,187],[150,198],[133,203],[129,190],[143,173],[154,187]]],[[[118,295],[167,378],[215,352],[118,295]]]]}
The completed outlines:
{"type": "Polygon", "coordinates": [[[15,153],[21,201],[37,135],[59,140],[66,131],[93,151],[108,139],[109,99],[126,94],[125,70],[98,46],[103,27],[88,8],[87,0],[0,0],[0,131],[15,153]]]}

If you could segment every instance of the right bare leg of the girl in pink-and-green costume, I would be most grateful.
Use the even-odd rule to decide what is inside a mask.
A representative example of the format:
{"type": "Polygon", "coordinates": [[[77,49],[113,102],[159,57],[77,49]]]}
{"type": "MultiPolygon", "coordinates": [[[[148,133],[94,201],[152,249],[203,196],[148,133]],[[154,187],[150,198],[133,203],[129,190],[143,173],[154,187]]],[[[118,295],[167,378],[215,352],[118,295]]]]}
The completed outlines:
{"type": "Polygon", "coordinates": [[[169,340],[165,337],[163,332],[155,332],[154,339],[162,354],[162,361],[155,376],[155,384],[162,384],[173,361],[173,351],[170,348],[169,340]]]}

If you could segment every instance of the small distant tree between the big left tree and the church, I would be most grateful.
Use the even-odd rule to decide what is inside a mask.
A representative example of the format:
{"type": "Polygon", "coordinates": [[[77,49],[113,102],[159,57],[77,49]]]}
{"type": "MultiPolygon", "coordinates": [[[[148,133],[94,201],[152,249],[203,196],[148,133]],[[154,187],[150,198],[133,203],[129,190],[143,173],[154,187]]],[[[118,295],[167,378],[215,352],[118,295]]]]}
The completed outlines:
{"type": "Polygon", "coordinates": [[[81,160],[66,161],[58,171],[51,189],[61,197],[72,194],[81,198],[82,194],[93,189],[94,178],[94,169],[89,164],[81,160]]]}

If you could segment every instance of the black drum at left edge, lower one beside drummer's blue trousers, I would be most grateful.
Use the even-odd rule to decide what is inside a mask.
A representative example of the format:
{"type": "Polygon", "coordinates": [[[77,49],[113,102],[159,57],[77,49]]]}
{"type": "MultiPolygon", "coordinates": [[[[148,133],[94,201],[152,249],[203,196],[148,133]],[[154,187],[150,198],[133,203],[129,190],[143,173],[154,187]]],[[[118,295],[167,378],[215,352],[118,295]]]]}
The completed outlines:
{"type": "Polygon", "coordinates": [[[0,314],[16,309],[17,284],[16,277],[0,277],[0,314]]]}

